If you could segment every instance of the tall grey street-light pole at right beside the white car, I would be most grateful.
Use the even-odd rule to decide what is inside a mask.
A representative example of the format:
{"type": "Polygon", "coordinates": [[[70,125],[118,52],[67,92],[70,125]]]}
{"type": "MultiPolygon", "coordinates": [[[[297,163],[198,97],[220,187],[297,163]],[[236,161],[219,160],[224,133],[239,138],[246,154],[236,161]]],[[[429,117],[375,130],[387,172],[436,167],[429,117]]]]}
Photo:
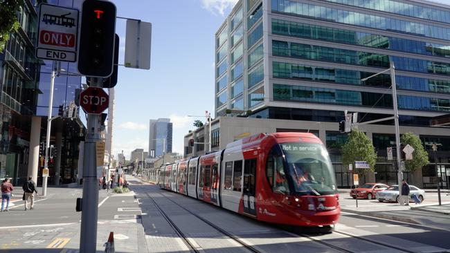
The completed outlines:
{"type": "Polygon", "coordinates": [[[403,172],[402,172],[402,157],[400,156],[399,112],[397,107],[397,85],[395,84],[394,62],[390,62],[390,83],[392,84],[392,98],[394,107],[395,149],[397,151],[397,178],[399,185],[399,196],[402,196],[403,172]]]}

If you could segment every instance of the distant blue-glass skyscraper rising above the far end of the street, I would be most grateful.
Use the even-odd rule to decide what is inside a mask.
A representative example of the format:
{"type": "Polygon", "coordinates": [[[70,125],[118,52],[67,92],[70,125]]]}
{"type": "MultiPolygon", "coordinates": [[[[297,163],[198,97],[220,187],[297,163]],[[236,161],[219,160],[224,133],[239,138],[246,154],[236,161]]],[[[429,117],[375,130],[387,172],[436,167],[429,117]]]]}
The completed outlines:
{"type": "MultiPolygon", "coordinates": [[[[148,153],[152,156],[172,153],[172,123],[170,119],[150,120],[148,153]]],[[[154,157],[152,156],[152,157],[154,157]]]]}

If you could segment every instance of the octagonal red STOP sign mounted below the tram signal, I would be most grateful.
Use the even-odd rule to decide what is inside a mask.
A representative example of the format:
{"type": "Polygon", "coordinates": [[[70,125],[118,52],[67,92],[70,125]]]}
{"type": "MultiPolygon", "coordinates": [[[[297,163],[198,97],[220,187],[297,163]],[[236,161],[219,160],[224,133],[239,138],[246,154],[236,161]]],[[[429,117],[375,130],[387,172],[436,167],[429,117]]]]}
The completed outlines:
{"type": "Polygon", "coordinates": [[[80,93],[80,106],[85,113],[100,114],[108,103],[109,96],[102,88],[89,87],[80,93]]]}

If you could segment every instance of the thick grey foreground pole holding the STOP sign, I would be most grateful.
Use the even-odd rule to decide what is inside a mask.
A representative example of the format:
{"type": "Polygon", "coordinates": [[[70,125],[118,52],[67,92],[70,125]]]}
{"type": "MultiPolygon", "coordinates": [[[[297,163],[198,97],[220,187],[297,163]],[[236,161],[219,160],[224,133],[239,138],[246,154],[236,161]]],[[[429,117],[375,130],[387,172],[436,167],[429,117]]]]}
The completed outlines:
{"type": "MultiPolygon", "coordinates": [[[[102,78],[94,79],[92,87],[100,87],[102,78]]],[[[83,198],[80,231],[80,252],[96,252],[98,219],[98,181],[96,142],[100,141],[100,115],[87,115],[87,133],[84,142],[83,198]]]]}

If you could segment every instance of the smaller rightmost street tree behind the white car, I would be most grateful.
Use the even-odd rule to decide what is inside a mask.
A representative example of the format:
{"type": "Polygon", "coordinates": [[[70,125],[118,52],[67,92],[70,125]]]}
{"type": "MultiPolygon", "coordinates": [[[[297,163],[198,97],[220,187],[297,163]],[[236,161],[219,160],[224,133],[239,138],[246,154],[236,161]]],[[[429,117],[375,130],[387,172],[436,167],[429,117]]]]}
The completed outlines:
{"type": "Polygon", "coordinates": [[[400,138],[400,140],[404,146],[409,144],[414,149],[413,160],[405,160],[406,171],[415,171],[416,169],[422,169],[422,167],[429,163],[428,152],[426,152],[424,144],[422,144],[419,136],[409,132],[402,135],[402,138],[400,138]]]}

